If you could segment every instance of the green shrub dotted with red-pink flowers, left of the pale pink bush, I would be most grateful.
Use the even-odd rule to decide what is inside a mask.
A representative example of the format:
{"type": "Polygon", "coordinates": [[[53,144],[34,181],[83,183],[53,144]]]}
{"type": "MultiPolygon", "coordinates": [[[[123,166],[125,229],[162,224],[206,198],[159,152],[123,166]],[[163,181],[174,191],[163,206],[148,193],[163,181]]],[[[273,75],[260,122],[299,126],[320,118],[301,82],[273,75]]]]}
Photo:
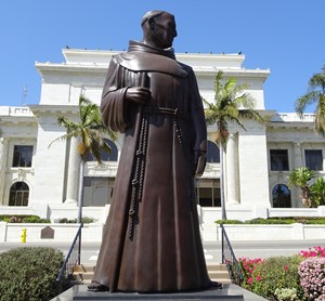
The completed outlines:
{"type": "Polygon", "coordinates": [[[277,300],[275,291],[295,289],[298,300],[306,300],[298,274],[300,256],[273,257],[261,261],[251,274],[250,290],[269,300],[277,300]]]}

